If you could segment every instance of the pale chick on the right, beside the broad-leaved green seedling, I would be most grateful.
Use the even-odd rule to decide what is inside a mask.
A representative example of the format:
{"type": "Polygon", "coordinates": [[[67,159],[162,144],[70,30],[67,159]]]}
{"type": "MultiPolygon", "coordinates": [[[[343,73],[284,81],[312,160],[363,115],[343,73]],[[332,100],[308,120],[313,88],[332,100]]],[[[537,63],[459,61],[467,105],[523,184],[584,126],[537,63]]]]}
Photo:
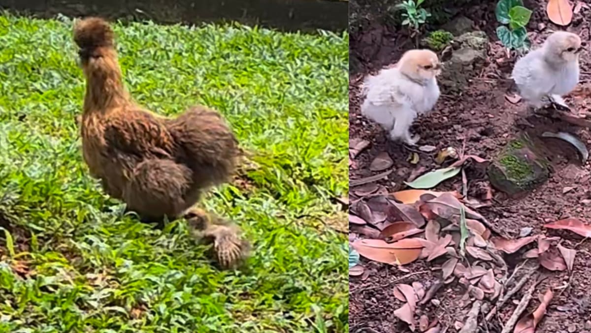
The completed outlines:
{"type": "Polygon", "coordinates": [[[568,106],[562,98],[579,83],[581,38],[566,31],[548,36],[539,49],[517,60],[511,78],[519,94],[534,109],[544,105],[544,98],[568,106]]]}

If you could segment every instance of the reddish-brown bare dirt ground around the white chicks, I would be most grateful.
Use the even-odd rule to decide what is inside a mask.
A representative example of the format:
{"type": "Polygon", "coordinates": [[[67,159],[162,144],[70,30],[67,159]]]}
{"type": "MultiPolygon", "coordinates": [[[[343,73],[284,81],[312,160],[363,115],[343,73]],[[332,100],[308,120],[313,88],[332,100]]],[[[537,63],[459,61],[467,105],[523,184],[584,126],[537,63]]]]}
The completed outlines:
{"type": "MultiPolygon", "coordinates": [[[[522,102],[513,105],[505,101],[504,95],[510,83],[499,80],[499,78],[509,77],[515,55],[512,54],[511,59],[506,59],[504,48],[496,38],[495,3],[496,1],[491,1],[489,4],[476,5],[464,13],[476,22],[475,30],[486,31],[491,38],[488,60],[480,76],[472,80],[469,88],[462,95],[442,95],[434,111],[415,122],[412,130],[422,137],[418,143],[419,146],[461,148],[465,142],[467,154],[490,158],[494,157],[511,137],[523,129],[519,124],[524,119],[525,105],[522,102]]],[[[534,15],[528,25],[532,44],[540,44],[551,30],[561,30],[545,16],[545,1],[526,3],[526,6],[534,8],[534,15]]],[[[583,8],[579,14],[574,15],[572,24],[566,30],[579,33],[583,41],[589,41],[590,23],[591,9],[583,8]]],[[[349,170],[350,179],[376,174],[369,170],[369,163],[378,153],[387,151],[394,160],[394,166],[392,166],[394,172],[389,174],[388,179],[378,183],[387,187],[388,192],[394,192],[402,188],[402,182],[411,174],[417,174],[417,170],[432,170],[440,166],[434,162],[433,154],[423,152],[420,153],[420,162],[417,165],[410,164],[407,161],[409,154],[407,149],[401,144],[387,140],[381,128],[363,118],[359,113],[359,85],[366,73],[395,63],[402,52],[413,47],[413,43],[408,41],[404,32],[383,26],[375,26],[371,30],[366,30],[363,35],[352,35],[350,38],[351,53],[356,53],[362,59],[362,65],[365,66],[362,73],[350,76],[350,139],[361,138],[371,142],[371,145],[353,160],[349,170]]],[[[588,45],[586,53],[582,55],[581,85],[591,85],[591,52],[588,45]]],[[[570,98],[567,98],[567,103],[571,106],[575,105],[578,109],[585,108],[587,111],[591,106],[589,102],[585,104],[584,100],[574,101],[570,98]]],[[[589,129],[548,118],[528,117],[527,120],[534,124],[533,129],[528,129],[534,134],[545,130],[567,131],[577,134],[587,147],[591,146],[589,129]]],[[[591,223],[591,205],[586,200],[591,198],[591,163],[587,161],[584,166],[577,163],[576,151],[568,145],[548,141],[548,150],[553,157],[551,159],[553,173],[548,182],[525,198],[518,200],[505,198],[503,193],[493,191],[493,205],[479,208],[478,212],[494,227],[503,230],[511,237],[518,237],[521,228],[532,227],[532,234],[560,235],[564,239],[563,245],[573,248],[582,241],[582,237],[571,232],[548,231],[541,226],[569,216],[591,223]],[[564,187],[574,187],[574,189],[563,194],[564,187]]],[[[482,194],[479,193],[480,189],[488,183],[485,174],[474,168],[468,168],[467,179],[469,196],[478,198],[482,194]]],[[[461,191],[461,177],[447,180],[436,189],[461,191]]],[[[510,257],[505,259],[512,271],[518,260],[513,262],[510,257]]],[[[577,247],[570,287],[555,292],[546,315],[537,326],[537,333],[591,332],[590,262],[591,241],[587,240],[577,247]]],[[[351,277],[349,282],[350,331],[410,332],[407,325],[393,315],[394,310],[402,305],[393,295],[393,282],[410,284],[420,281],[428,288],[437,279],[436,272],[430,271],[435,265],[418,260],[404,266],[401,270],[363,257],[360,263],[365,267],[366,274],[363,277],[351,277]],[[397,280],[409,272],[424,270],[427,272],[397,280]]],[[[545,269],[540,271],[547,274],[548,278],[535,289],[534,298],[527,311],[537,307],[539,304],[537,295],[543,293],[547,287],[563,286],[569,280],[567,271],[558,273],[545,269]]],[[[498,323],[504,324],[511,316],[525,289],[527,287],[507,302],[499,316],[489,324],[488,331],[482,332],[501,332],[498,323]]],[[[470,301],[462,300],[464,293],[465,289],[457,283],[457,280],[447,284],[434,297],[441,301],[441,305],[434,306],[432,303],[427,303],[427,305],[417,306],[418,315],[425,313],[430,319],[437,317],[444,324],[443,327],[450,326],[447,332],[457,332],[453,327],[454,322],[463,321],[470,309],[470,301]]]]}

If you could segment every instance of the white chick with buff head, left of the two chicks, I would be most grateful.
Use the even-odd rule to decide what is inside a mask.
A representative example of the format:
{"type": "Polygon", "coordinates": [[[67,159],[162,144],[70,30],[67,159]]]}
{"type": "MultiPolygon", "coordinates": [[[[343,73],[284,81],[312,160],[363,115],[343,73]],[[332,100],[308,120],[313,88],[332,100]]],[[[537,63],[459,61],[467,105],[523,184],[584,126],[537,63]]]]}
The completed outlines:
{"type": "Polygon", "coordinates": [[[439,73],[439,59],[433,51],[406,51],[394,68],[366,77],[361,113],[389,131],[392,140],[414,146],[420,136],[413,137],[410,127],[418,114],[431,111],[439,99],[439,73]]]}

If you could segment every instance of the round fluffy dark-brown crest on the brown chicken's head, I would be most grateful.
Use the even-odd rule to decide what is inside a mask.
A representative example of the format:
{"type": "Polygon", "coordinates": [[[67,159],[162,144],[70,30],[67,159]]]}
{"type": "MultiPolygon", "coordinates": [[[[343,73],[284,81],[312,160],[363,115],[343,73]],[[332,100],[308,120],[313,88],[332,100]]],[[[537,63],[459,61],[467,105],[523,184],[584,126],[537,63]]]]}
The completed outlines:
{"type": "Polygon", "coordinates": [[[80,49],[113,46],[114,33],[109,23],[99,17],[87,17],[74,24],[74,42],[80,49]]]}

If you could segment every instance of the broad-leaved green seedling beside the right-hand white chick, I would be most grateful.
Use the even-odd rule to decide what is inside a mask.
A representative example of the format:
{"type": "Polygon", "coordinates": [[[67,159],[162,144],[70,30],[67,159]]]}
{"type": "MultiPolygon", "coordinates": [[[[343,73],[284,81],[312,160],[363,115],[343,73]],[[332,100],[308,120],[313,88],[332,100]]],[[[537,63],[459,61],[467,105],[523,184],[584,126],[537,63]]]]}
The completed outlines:
{"type": "Polygon", "coordinates": [[[496,20],[501,24],[496,35],[508,49],[523,50],[530,47],[525,25],[530,21],[531,10],[523,7],[522,0],[499,0],[495,9],[496,20]]]}

